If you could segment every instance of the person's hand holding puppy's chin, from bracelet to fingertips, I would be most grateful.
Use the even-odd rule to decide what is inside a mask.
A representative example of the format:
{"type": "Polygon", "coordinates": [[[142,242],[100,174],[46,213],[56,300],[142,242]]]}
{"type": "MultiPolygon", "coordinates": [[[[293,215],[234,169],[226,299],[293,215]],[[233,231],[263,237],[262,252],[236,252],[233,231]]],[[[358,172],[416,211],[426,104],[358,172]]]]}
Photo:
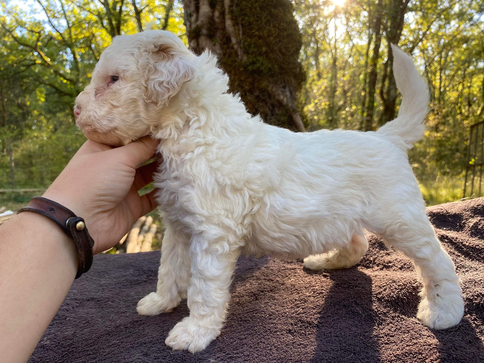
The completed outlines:
{"type": "Polygon", "coordinates": [[[118,243],[135,221],[156,208],[155,190],[139,196],[153,180],[160,161],[140,166],[156,151],[149,137],[119,148],[88,140],[47,189],[44,196],[84,218],[94,253],[118,243]]]}

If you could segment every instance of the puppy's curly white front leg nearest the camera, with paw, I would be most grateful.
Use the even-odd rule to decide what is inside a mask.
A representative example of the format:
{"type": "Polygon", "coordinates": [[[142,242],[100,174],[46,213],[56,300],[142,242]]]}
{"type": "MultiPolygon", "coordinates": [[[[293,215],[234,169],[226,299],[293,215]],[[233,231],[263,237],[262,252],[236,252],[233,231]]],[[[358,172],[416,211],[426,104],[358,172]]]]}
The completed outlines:
{"type": "Polygon", "coordinates": [[[240,249],[227,242],[211,244],[201,234],[196,234],[191,240],[190,254],[192,277],[187,301],[190,316],[175,325],[165,344],[196,353],[220,334],[240,249]]]}

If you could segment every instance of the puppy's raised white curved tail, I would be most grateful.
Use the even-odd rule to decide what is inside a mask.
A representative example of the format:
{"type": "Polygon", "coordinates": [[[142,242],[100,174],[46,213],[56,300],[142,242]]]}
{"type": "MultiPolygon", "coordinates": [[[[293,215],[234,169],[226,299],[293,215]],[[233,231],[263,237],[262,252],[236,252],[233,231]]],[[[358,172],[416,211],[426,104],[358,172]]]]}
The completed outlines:
{"type": "Polygon", "coordinates": [[[410,149],[414,142],[422,138],[425,131],[423,120],[428,112],[428,87],[415,68],[413,60],[396,45],[392,44],[392,50],[393,75],[398,91],[403,96],[402,104],[398,117],[380,127],[377,133],[395,141],[403,140],[403,146],[410,149]]]}

